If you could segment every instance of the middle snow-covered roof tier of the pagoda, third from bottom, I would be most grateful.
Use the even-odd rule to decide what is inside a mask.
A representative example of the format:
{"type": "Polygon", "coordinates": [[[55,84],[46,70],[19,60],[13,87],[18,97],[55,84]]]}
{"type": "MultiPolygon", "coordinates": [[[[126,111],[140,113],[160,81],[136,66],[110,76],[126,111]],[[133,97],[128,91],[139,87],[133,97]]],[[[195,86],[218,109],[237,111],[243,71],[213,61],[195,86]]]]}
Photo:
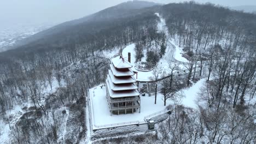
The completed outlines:
{"type": "Polygon", "coordinates": [[[135,80],[135,78],[133,76],[129,76],[129,77],[116,77],[116,76],[114,76],[114,74],[112,73],[111,70],[108,70],[108,73],[109,73],[110,79],[115,84],[136,82],[136,80],[135,80]]]}

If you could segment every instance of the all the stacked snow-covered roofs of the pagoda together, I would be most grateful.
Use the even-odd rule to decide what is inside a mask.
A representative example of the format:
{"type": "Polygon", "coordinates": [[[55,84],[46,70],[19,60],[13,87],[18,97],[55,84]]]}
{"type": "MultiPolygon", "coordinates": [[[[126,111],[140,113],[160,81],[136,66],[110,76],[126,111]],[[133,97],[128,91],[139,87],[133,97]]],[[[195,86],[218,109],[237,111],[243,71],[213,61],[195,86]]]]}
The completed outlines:
{"type": "Polygon", "coordinates": [[[139,95],[138,87],[133,77],[132,65],[123,57],[112,58],[107,76],[107,88],[112,98],[135,97],[139,95]]]}

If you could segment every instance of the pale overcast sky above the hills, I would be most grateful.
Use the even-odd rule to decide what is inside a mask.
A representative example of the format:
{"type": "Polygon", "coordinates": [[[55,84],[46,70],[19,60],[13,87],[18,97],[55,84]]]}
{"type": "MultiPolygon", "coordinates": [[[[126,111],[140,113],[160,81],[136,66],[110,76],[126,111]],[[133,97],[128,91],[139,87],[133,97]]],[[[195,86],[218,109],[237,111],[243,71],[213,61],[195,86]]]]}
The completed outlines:
{"type": "MultiPolygon", "coordinates": [[[[126,0],[127,1],[127,0],[126,0]]],[[[17,23],[60,23],[95,13],[125,0],[0,0],[0,26],[17,23]]],[[[157,3],[183,2],[184,0],[149,0],[157,3]]],[[[255,0],[195,0],[224,6],[256,5],[255,0]]]]}

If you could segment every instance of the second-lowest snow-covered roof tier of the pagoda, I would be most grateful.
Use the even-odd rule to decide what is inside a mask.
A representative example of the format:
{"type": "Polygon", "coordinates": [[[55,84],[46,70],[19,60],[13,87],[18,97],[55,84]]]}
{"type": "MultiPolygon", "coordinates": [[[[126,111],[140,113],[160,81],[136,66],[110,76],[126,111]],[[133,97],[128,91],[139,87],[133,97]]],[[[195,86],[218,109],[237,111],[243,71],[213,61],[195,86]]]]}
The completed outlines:
{"type": "Polygon", "coordinates": [[[108,75],[107,81],[109,82],[109,86],[113,91],[125,91],[125,90],[138,89],[138,87],[134,83],[125,83],[121,85],[115,85],[110,79],[109,75],[108,75]]]}

